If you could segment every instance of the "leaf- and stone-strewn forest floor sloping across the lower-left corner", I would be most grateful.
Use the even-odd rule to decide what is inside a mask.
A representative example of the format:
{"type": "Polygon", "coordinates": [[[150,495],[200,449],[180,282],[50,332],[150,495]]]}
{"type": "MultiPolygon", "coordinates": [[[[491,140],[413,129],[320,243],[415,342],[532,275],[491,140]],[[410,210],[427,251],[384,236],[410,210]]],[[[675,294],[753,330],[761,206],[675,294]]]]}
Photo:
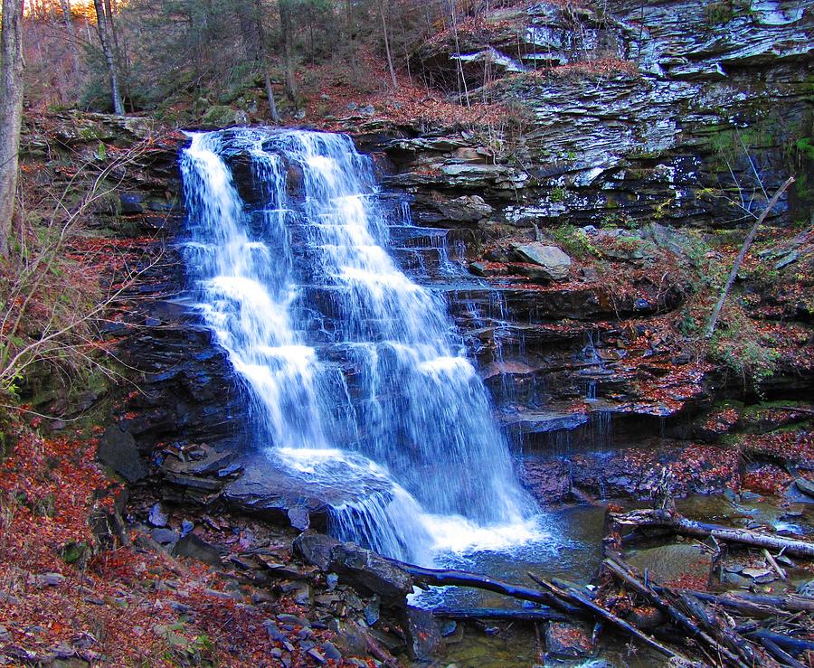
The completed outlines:
{"type": "MultiPolygon", "coordinates": [[[[308,605],[285,587],[252,586],[228,562],[174,557],[147,529],[126,528],[128,495],[96,464],[96,437],[43,437],[19,423],[6,433],[0,665],[369,664],[341,659],[336,634],[309,623],[308,605]]],[[[279,539],[251,522],[219,522],[208,539],[222,550],[279,539]]],[[[289,549],[290,536],[280,544],[289,549]]]]}

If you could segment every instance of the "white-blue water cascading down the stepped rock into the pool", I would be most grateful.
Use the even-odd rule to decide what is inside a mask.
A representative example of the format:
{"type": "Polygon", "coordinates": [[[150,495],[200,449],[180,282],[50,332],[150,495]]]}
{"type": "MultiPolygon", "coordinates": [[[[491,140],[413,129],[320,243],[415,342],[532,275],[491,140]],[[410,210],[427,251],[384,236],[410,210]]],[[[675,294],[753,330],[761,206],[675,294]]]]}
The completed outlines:
{"type": "Polygon", "coordinates": [[[253,438],[309,484],[358,485],[332,530],[384,554],[527,537],[534,504],[444,300],[386,250],[409,209],[389,212],[370,159],[327,133],[191,136],[186,264],[250,390],[253,438]],[[229,166],[247,160],[251,206],[229,166]]]}

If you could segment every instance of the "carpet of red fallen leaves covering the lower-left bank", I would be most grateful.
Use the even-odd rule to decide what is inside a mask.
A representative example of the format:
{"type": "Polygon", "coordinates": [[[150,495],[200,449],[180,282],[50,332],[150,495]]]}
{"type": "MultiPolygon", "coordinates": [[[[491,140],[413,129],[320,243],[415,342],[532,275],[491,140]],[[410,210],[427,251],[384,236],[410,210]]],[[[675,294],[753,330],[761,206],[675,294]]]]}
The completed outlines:
{"type": "MultiPolygon", "coordinates": [[[[279,665],[270,652],[283,645],[263,627],[270,611],[216,596],[225,580],[199,562],[122,547],[93,555],[84,569],[65,563],[62,548],[91,545],[90,513],[112,511],[121,490],[94,463],[93,441],[22,427],[9,436],[14,446],[0,462],[0,626],[11,637],[0,654],[14,646],[47,657],[62,645],[93,664],[279,665]],[[46,573],[62,578],[45,585],[46,573]]],[[[287,598],[271,614],[283,612],[303,613],[287,598]]],[[[316,665],[299,649],[298,630],[292,664],[316,665]]],[[[319,629],[311,639],[336,640],[319,629]]]]}

